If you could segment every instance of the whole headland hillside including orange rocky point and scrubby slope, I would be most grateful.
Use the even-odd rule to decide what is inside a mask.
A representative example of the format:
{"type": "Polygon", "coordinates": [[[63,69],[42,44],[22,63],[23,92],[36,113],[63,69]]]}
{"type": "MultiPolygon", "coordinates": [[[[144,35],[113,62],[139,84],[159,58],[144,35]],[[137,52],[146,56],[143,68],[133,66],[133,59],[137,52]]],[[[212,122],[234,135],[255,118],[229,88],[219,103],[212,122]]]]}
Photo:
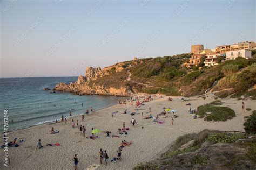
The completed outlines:
{"type": "Polygon", "coordinates": [[[85,76],[75,83],[59,83],[58,91],[79,95],[130,96],[134,93],[194,96],[212,91],[230,89],[228,95],[241,93],[256,82],[256,58],[237,58],[217,66],[200,69],[181,67],[190,54],[135,59],[101,68],[89,67],[85,76]],[[214,83],[215,82],[215,83],[214,83]]]}

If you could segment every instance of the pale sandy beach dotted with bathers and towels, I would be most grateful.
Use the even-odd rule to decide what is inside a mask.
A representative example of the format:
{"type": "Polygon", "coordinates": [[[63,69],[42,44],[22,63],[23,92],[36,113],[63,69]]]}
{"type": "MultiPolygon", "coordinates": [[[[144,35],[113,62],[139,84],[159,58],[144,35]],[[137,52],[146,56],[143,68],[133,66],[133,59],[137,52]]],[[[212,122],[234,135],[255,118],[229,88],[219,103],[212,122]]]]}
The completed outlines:
{"type": "MultiPolygon", "coordinates": [[[[146,102],[144,106],[140,107],[140,110],[138,110],[140,114],[134,116],[123,114],[123,112],[126,109],[128,112],[135,112],[135,104],[117,104],[85,115],[85,122],[82,122],[82,116],[73,118],[75,128],[71,127],[72,119],[68,119],[67,124],[65,122],[53,125],[44,124],[10,132],[8,134],[9,141],[18,137],[25,138],[25,142],[18,142],[19,147],[8,148],[11,164],[6,168],[2,163],[0,169],[72,169],[72,159],[75,154],[78,155],[79,159],[78,169],[86,169],[90,165],[99,164],[100,148],[106,150],[109,154],[109,165],[104,166],[102,164],[98,169],[132,169],[139,162],[150,161],[158,157],[172,141],[183,134],[199,132],[204,129],[244,131],[244,117],[251,114],[251,111],[247,111],[246,108],[256,110],[255,101],[244,101],[245,109],[242,110],[242,100],[226,98],[221,101],[224,102],[223,106],[230,107],[235,111],[236,117],[233,119],[226,122],[206,122],[200,118],[193,119],[194,114],[188,114],[190,108],[197,108],[199,105],[214,101],[213,94],[205,96],[205,100],[201,97],[190,97],[190,101],[187,102],[181,102],[181,97],[172,97],[173,101],[170,102],[167,100],[168,96],[159,98],[159,95],[157,95],[157,97],[153,97],[152,101],[146,102]],[[191,103],[191,106],[186,105],[187,103],[191,103]],[[170,107],[177,110],[175,115],[178,118],[174,118],[173,125],[171,124],[173,114],[167,114],[169,115],[167,118],[160,116],[158,121],[165,121],[163,124],[153,122],[152,119],[142,119],[142,112],[144,112],[144,117],[150,115],[149,107],[155,117],[163,111],[163,107],[170,107]],[[114,111],[118,112],[112,117],[114,111]],[[135,127],[130,124],[132,118],[137,121],[135,127]],[[86,137],[91,135],[91,128],[111,131],[112,133],[110,137],[106,137],[104,133],[99,133],[99,138],[95,140],[82,137],[76,125],[77,119],[79,125],[82,124],[86,128],[86,137]],[[122,128],[123,122],[126,123],[126,127],[130,128],[127,131],[127,136],[111,137],[113,134],[117,134],[118,128],[122,128]],[[52,127],[60,132],[50,134],[52,127]],[[41,139],[44,146],[40,150],[37,148],[38,139],[41,139]],[[117,148],[122,140],[132,141],[132,145],[123,148],[122,161],[110,162],[113,157],[117,157],[117,148]],[[55,143],[59,143],[60,146],[46,146],[46,144],[55,143]]],[[[139,98],[139,100],[142,101],[142,98],[139,98]]],[[[3,150],[1,152],[2,156],[3,150]]]]}

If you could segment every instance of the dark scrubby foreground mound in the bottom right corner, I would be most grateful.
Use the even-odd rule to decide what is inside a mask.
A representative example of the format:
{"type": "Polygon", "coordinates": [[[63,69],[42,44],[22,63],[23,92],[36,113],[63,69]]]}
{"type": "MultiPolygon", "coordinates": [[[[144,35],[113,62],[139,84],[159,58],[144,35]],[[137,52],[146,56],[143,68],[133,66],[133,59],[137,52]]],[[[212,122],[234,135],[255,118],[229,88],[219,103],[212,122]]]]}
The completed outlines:
{"type": "Polygon", "coordinates": [[[255,136],[203,130],[179,137],[160,158],[134,169],[255,169],[255,155],[255,136]],[[196,142],[181,149],[191,140],[196,142]]]}

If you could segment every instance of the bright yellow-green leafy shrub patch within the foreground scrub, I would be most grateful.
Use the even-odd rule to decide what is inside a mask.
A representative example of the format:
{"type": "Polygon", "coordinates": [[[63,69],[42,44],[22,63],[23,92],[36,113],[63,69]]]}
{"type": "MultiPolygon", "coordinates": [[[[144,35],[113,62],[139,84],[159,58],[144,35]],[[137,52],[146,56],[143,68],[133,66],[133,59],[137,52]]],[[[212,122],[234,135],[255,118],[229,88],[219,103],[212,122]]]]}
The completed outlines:
{"type": "Polygon", "coordinates": [[[241,133],[212,133],[208,135],[206,140],[211,141],[213,143],[232,143],[244,137],[245,135],[241,133]]]}

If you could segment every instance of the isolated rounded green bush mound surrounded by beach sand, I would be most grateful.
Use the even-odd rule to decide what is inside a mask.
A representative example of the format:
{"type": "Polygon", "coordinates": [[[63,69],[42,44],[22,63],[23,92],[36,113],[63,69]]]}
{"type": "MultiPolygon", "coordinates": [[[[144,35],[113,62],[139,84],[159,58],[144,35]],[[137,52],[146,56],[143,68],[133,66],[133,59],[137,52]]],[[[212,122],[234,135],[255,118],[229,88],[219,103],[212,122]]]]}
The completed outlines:
{"type": "Polygon", "coordinates": [[[199,118],[204,118],[205,121],[227,121],[235,117],[233,109],[228,107],[220,107],[223,104],[221,101],[213,101],[212,103],[201,105],[197,108],[199,118]]]}

